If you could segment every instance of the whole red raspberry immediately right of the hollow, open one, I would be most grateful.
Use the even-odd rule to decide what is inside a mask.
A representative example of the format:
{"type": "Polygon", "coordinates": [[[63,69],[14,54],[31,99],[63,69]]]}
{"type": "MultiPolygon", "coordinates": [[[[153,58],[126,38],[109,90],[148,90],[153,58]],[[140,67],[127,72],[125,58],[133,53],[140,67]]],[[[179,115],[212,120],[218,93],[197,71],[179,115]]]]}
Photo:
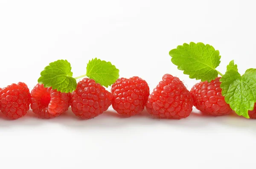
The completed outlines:
{"type": "Polygon", "coordinates": [[[72,92],[71,108],[76,116],[90,119],[101,115],[111,105],[112,94],[95,80],[84,78],[72,92]]]}

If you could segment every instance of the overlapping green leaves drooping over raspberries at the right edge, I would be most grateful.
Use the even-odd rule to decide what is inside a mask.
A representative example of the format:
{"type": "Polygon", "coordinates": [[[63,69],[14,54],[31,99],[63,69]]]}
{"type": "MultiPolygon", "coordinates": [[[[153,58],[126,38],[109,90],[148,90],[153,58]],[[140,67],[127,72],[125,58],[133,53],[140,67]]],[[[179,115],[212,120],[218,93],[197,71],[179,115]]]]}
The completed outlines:
{"type": "Polygon", "coordinates": [[[220,79],[222,95],[238,115],[249,118],[248,110],[253,110],[256,102],[256,69],[248,69],[242,76],[237,71],[231,61],[220,79]]]}

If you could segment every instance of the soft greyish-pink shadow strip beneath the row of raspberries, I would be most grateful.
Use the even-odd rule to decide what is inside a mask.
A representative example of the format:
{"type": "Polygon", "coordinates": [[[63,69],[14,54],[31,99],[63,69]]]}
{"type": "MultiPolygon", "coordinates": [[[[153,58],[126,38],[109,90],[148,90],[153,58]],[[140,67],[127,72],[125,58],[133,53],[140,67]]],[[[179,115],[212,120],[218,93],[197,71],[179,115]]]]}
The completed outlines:
{"type": "MultiPolygon", "coordinates": [[[[40,119],[31,110],[26,116],[17,119],[9,120],[2,113],[0,113],[0,127],[14,127],[14,126],[40,126],[47,124],[63,125],[70,129],[120,129],[122,127],[134,127],[134,126],[158,126],[165,125],[173,128],[184,129],[201,129],[211,128],[215,125],[221,125],[223,127],[232,127],[237,129],[251,130],[256,132],[255,119],[246,119],[238,116],[235,113],[225,116],[207,116],[193,110],[191,115],[186,119],[174,120],[174,119],[158,119],[151,117],[145,110],[133,117],[123,117],[117,114],[113,110],[108,110],[102,115],[89,120],[82,120],[76,117],[71,109],[59,117],[52,119],[40,119]]],[[[139,129],[139,128],[138,128],[139,129]]]]}

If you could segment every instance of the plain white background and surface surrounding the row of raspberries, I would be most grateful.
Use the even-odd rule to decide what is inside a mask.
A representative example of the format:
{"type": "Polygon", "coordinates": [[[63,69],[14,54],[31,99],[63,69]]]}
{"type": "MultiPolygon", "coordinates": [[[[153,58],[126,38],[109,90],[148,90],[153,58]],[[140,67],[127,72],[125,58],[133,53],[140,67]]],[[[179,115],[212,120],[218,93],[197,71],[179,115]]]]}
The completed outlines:
{"type": "MultiPolygon", "coordinates": [[[[0,0],[0,87],[35,86],[48,63],[67,59],[74,77],[88,60],[111,61],[120,77],[140,76],[151,91],[163,74],[189,79],[169,50],[203,42],[243,74],[256,68],[253,0],[0,0]]],[[[182,120],[147,112],[125,118],[112,108],[90,120],[71,111],[50,120],[31,111],[18,120],[0,115],[1,169],[253,169],[256,120],[208,117],[182,120]]]]}

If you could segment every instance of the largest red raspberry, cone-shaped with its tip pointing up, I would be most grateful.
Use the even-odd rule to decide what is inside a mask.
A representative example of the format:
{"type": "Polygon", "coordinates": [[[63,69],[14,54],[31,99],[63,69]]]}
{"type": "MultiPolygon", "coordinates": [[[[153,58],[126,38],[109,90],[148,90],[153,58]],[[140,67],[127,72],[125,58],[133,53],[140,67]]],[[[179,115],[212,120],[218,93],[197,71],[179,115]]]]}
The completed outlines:
{"type": "Polygon", "coordinates": [[[193,107],[189,91],[178,77],[165,74],[162,79],[148,96],[147,111],[158,118],[188,117],[193,107]]]}

